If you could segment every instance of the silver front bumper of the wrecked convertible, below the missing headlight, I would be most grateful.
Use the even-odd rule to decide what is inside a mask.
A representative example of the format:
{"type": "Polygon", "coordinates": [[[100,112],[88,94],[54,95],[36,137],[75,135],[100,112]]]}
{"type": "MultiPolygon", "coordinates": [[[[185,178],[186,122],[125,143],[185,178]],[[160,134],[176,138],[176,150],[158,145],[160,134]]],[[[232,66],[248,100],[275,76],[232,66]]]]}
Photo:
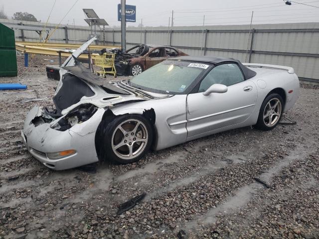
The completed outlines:
{"type": "Polygon", "coordinates": [[[94,138],[96,129],[92,129],[90,121],[101,120],[104,109],[99,109],[91,119],[75,124],[70,129],[59,131],[51,128],[59,119],[50,123],[43,122],[35,126],[32,120],[43,114],[42,108],[35,106],[27,114],[21,131],[22,142],[27,150],[54,170],[64,170],[98,161],[94,138]],[[59,159],[50,159],[48,153],[75,150],[75,153],[59,159]]]}

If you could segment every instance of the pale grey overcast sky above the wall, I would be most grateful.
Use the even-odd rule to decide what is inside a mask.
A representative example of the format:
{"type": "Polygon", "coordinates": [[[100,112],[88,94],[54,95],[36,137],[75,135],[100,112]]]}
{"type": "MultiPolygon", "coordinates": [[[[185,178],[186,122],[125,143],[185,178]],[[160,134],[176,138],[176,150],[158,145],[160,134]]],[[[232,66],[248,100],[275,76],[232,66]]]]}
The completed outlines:
{"type": "MultiPolygon", "coordinates": [[[[0,7],[11,17],[14,12],[32,13],[41,22],[46,22],[55,0],[0,0],[0,7]]],[[[128,26],[167,26],[174,10],[174,26],[249,24],[254,10],[253,24],[285,22],[319,22],[319,0],[296,0],[318,8],[297,4],[286,5],[283,0],[126,0],[136,5],[137,19],[128,26]]],[[[82,8],[93,8],[109,25],[119,26],[117,4],[120,0],[56,0],[49,22],[87,25],[82,8]],[[76,3],[75,3],[76,2],[76,3]],[[74,7],[70,10],[72,5],[74,7]]]]}

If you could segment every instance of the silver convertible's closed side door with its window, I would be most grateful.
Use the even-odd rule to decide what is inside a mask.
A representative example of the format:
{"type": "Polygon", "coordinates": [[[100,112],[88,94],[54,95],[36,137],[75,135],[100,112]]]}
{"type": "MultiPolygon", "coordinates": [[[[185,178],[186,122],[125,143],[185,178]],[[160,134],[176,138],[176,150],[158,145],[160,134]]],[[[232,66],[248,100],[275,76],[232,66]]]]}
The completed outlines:
{"type": "Polygon", "coordinates": [[[244,79],[236,63],[215,66],[199,83],[198,92],[187,96],[187,137],[245,121],[256,101],[255,84],[244,79]],[[204,96],[213,84],[226,85],[228,91],[204,96]]]}

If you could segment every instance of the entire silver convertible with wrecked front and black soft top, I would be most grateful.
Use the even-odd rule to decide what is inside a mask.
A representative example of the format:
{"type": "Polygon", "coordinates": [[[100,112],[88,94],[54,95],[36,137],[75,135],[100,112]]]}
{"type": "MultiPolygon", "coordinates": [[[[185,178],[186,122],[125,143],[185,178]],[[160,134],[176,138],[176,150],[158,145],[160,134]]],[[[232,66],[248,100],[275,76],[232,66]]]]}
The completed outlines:
{"type": "Polygon", "coordinates": [[[62,65],[54,108],[35,106],[21,136],[45,166],[62,170],[110,160],[132,163],[209,134],[255,125],[276,127],[299,93],[294,69],[183,56],[131,80],[106,82],[77,62],[62,65]]]}

